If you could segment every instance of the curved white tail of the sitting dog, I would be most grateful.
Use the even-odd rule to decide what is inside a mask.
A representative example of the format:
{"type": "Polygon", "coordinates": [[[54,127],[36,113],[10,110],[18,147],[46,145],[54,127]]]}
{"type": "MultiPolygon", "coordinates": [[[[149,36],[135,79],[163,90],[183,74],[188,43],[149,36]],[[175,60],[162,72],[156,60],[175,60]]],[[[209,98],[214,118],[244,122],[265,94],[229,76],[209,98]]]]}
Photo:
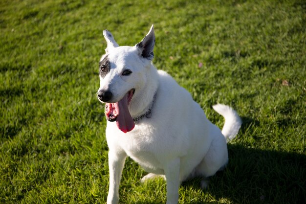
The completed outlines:
{"type": "Polygon", "coordinates": [[[223,104],[214,105],[213,109],[224,117],[225,123],[222,128],[222,134],[227,141],[231,141],[238,134],[242,124],[241,118],[235,110],[223,104]]]}

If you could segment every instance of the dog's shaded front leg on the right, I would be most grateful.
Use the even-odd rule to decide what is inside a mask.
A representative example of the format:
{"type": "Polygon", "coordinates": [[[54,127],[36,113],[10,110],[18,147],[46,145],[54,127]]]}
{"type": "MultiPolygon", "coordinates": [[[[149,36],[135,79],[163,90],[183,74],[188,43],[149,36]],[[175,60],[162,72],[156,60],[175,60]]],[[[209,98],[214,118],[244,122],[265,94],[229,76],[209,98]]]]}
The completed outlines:
{"type": "Polygon", "coordinates": [[[167,181],[167,204],[177,204],[180,159],[174,159],[167,163],[164,171],[167,181]]]}

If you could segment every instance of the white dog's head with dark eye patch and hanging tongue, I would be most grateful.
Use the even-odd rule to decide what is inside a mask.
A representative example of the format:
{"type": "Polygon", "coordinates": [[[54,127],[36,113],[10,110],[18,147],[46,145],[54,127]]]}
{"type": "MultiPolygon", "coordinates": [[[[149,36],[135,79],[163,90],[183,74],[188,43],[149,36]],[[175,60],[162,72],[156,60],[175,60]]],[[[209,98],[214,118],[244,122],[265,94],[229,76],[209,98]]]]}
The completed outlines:
{"type": "Polygon", "coordinates": [[[119,46],[108,30],[103,31],[106,53],[100,60],[98,99],[106,103],[106,117],[116,121],[118,128],[129,132],[134,122],[128,106],[133,96],[145,86],[146,68],[153,59],[155,35],[153,25],[144,39],[134,46],[119,46]]]}

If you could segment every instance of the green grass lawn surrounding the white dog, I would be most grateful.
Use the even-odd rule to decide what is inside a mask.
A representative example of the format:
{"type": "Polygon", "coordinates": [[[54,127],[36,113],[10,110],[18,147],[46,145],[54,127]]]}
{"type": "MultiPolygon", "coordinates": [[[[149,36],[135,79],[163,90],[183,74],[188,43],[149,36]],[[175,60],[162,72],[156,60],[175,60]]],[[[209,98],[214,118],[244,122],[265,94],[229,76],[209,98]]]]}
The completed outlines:
{"type": "MultiPolygon", "coordinates": [[[[211,106],[243,119],[228,167],[179,204],[306,200],[306,4],[244,1],[0,0],[0,203],[104,204],[108,147],[96,98],[109,29],[134,45],[154,23],[153,63],[211,106]]],[[[127,159],[120,203],[166,202],[166,183],[127,159]]]]}

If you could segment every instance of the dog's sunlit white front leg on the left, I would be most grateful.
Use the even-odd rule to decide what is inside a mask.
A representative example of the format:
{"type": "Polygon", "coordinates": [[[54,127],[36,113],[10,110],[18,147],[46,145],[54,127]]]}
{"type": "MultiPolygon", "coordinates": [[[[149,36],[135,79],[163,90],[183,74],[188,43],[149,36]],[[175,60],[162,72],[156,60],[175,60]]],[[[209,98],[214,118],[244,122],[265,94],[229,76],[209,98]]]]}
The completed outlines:
{"type": "Polygon", "coordinates": [[[118,204],[119,184],[127,155],[123,151],[109,150],[109,195],[107,204],[118,204]]]}

